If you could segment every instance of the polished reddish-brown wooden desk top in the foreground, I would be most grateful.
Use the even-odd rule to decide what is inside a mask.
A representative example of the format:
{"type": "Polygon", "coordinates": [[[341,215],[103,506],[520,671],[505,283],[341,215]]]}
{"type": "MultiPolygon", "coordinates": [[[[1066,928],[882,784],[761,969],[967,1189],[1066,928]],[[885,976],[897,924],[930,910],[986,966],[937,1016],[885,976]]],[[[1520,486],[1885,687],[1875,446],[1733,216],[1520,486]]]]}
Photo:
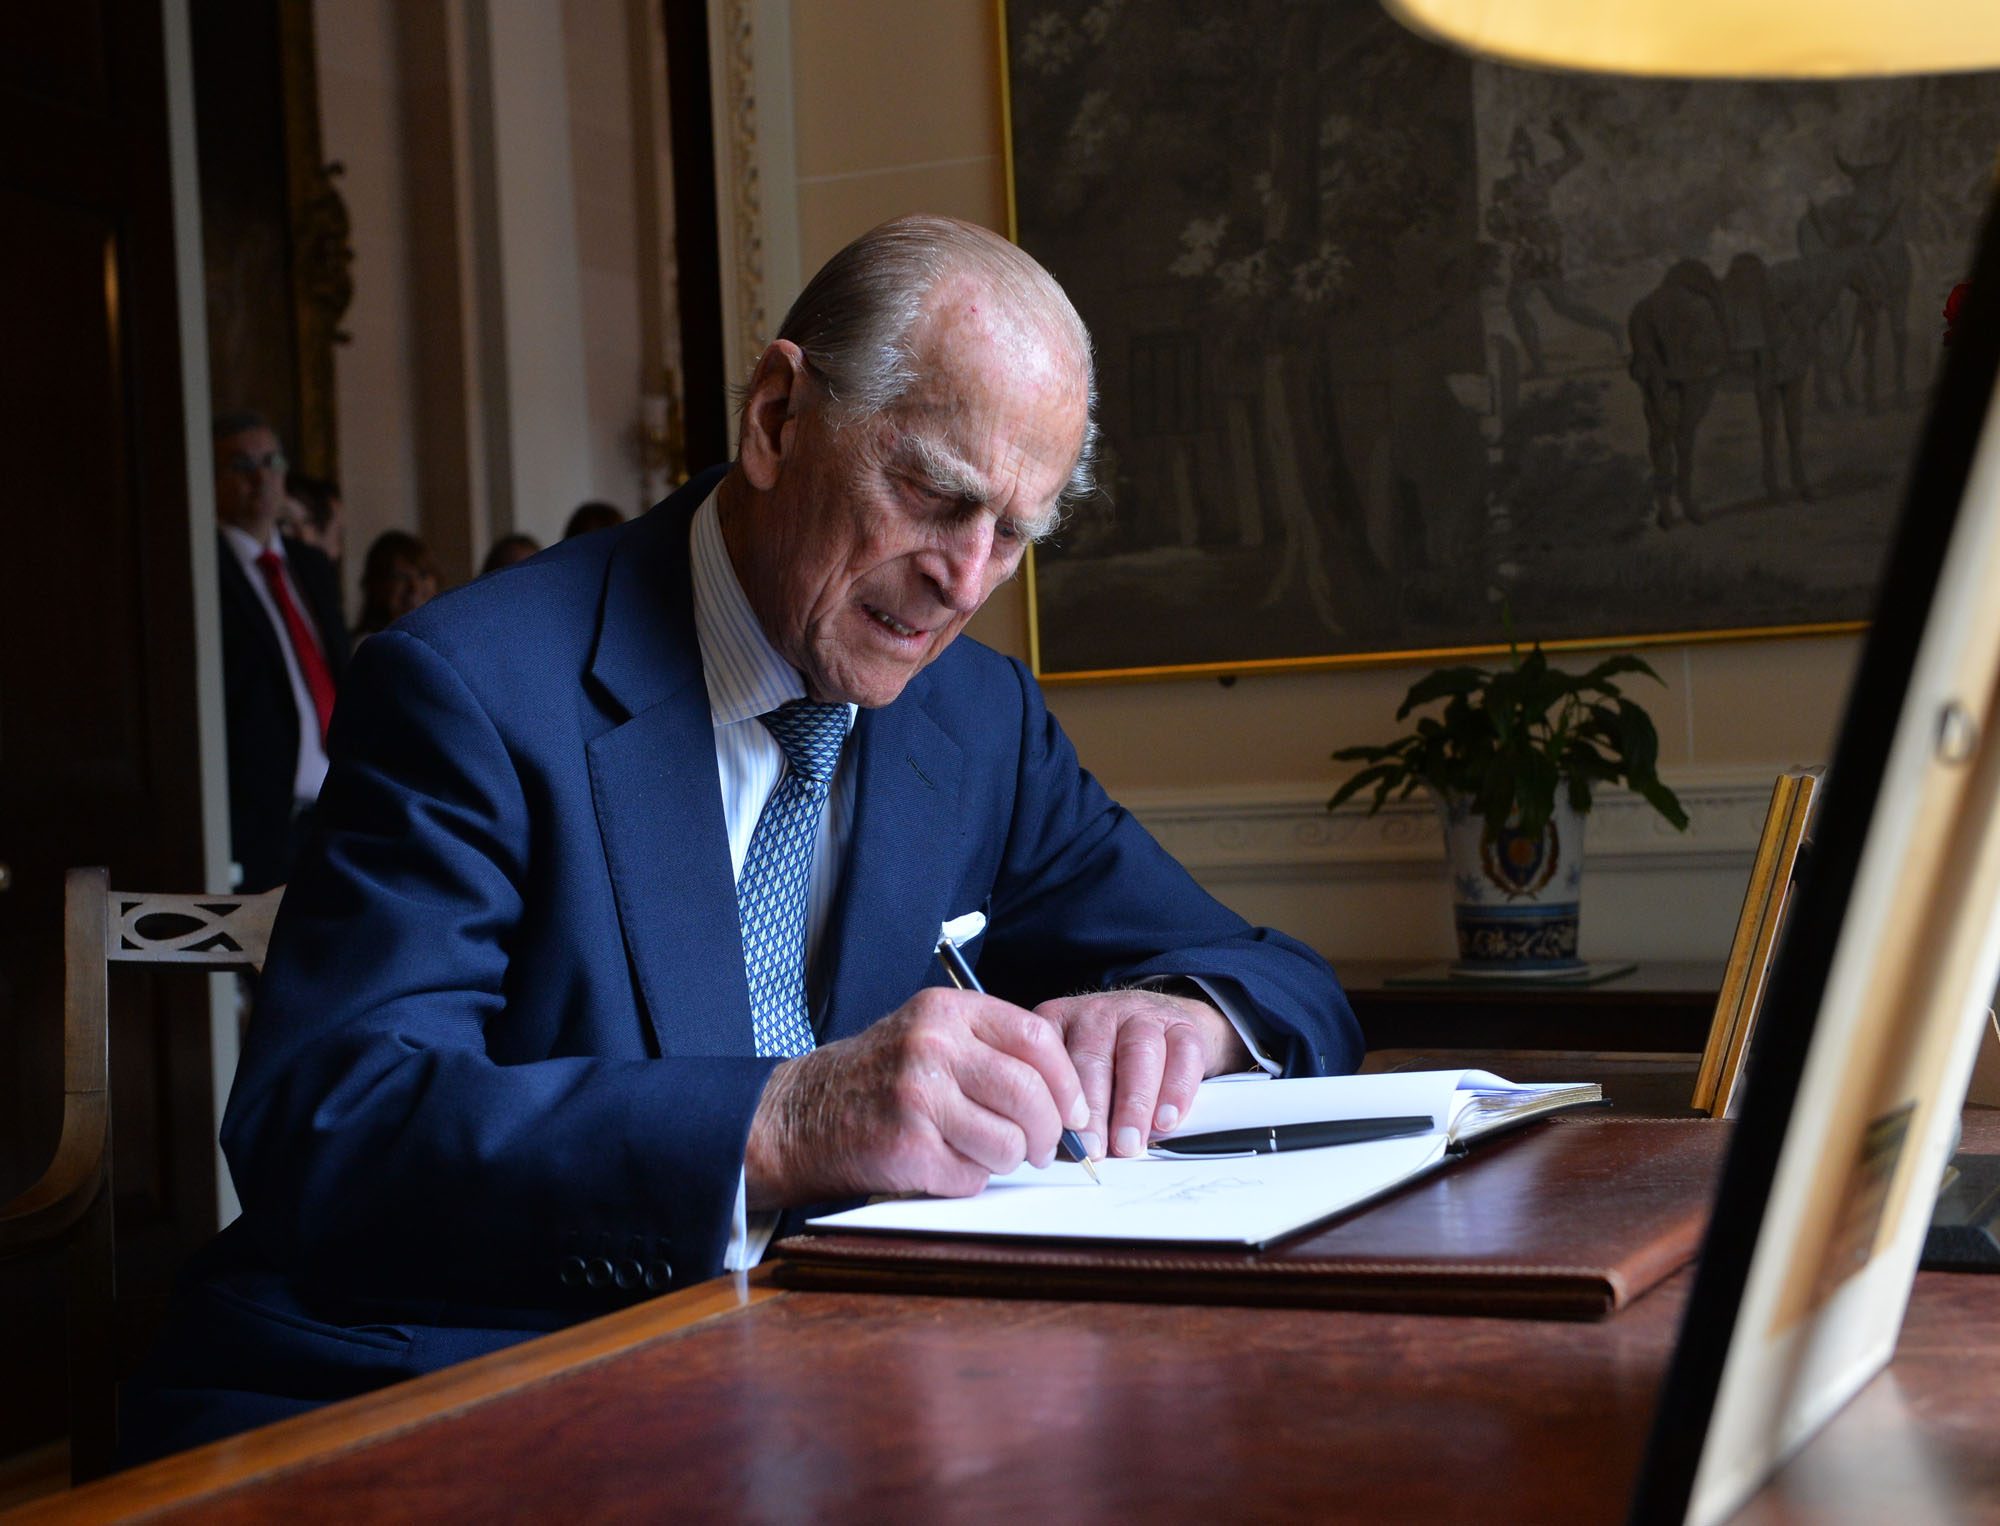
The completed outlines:
{"type": "MultiPolygon", "coordinates": [[[[724,1278],[24,1518],[1618,1520],[1686,1292],[1552,1324],[724,1278]]],[[[1742,1520],[2000,1518],[1996,1362],[2000,1278],[1920,1274],[1742,1520]]]]}

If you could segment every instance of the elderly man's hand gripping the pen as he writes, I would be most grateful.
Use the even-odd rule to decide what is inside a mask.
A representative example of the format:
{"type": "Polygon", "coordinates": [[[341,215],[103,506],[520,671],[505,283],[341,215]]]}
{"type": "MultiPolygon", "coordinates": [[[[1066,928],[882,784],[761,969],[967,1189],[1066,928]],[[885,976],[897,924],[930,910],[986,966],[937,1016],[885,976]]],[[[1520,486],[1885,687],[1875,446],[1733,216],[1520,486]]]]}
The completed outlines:
{"type": "Polygon", "coordinates": [[[1052,1022],[932,986],[854,1038],[772,1070],[750,1120],[750,1208],[868,1192],[964,1198],[1024,1160],[1046,1166],[1090,1120],[1052,1022]]]}

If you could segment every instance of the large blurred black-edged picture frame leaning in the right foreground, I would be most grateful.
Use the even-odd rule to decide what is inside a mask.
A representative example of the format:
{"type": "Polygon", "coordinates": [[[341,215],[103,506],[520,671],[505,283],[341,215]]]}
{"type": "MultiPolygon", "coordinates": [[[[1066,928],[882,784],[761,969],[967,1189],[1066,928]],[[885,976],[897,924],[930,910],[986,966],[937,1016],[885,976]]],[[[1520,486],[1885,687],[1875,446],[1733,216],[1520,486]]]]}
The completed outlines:
{"type": "Polygon", "coordinates": [[[1990,220],[1758,1002],[1632,1516],[1720,1522],[1888,1362],[2000,980],[1990,220]]]}

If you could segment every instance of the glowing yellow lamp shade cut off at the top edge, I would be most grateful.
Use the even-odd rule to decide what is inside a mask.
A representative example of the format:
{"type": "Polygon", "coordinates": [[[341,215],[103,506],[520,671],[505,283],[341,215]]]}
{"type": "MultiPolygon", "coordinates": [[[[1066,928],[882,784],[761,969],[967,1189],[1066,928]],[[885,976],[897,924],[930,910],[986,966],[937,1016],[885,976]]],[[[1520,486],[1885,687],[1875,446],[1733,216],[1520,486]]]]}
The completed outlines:
{"type": "Polygon", "coordinates": [[[2000,68],[2000,0],[1382,0],[1506,64],[1816,80],[2000,68]]]}

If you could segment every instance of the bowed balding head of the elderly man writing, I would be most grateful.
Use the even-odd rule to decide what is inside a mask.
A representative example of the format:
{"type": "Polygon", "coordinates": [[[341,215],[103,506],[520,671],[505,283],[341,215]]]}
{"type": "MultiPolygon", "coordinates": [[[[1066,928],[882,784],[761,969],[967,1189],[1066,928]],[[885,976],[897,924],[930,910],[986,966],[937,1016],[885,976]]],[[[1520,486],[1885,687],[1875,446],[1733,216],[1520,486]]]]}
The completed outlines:
{"type": "Polygon", "coordinates": [[[1090,338],[984,228],[902,218],[812,278],[744,390],[722,540],[816,700],[890,704],[1088,486],[1090,338]]]}

